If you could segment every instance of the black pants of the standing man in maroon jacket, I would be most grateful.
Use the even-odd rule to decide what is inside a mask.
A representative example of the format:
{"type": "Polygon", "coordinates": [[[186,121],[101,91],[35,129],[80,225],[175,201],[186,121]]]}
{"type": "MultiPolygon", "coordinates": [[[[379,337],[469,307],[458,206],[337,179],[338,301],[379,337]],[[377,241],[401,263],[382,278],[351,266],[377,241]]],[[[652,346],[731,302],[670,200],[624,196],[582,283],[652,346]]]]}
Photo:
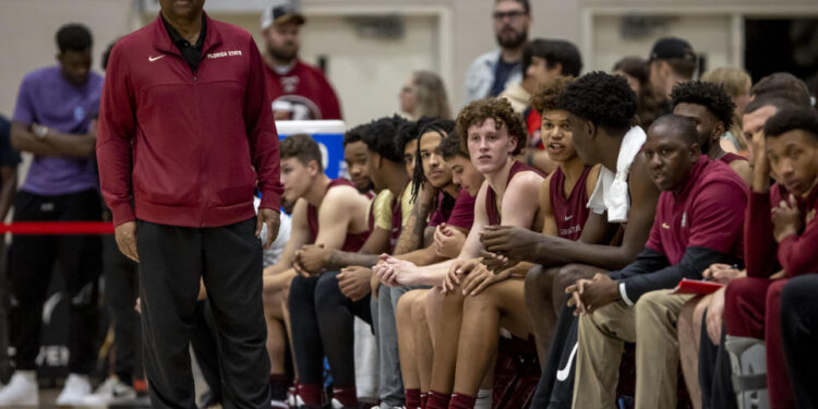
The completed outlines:
{"type": "Polygon", "coordinates": [[[155,408],[193,408],[189,345],[200,278],[218,332],[225,408],[269,408],[255,218],[188,228],[137,224],[145,372],[155,408]]]}

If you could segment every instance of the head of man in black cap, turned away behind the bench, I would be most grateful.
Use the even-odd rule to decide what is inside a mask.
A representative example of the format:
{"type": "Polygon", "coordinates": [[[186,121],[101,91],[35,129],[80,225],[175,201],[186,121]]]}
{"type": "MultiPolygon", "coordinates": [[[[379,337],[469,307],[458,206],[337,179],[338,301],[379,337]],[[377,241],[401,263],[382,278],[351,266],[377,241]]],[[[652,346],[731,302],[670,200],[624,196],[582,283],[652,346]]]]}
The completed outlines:
{"type": "Polygon", "coordinates": [[[660,38],[648,56],[650,83],[659,95],[670,98],[673,86],[693,80],[696,53],[686,40],[677,37],[660,38]]]}

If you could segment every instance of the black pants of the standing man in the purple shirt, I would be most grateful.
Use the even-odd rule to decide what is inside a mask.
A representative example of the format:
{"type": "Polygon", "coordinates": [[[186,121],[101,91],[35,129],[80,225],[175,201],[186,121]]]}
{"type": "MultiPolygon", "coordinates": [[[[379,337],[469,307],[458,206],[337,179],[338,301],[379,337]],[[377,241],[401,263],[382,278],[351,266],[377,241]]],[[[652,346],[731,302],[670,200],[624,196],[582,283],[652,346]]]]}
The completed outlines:
{"type": "MultiPolygon", "coordinates": [[[[101,201],[94,190],[55,196],[21,191],[14,201],[14,221],[100,220],[101,217],[101,201]]],[[[16,350],[16,369],[37,368],[43,303],[48,296],[55,262],[62,273],[70,313],[69,370],[87,374],[94,369],[101,243],[99,236],[14,236],[9,248],[9,329],[11,345],[16,350]]]]}

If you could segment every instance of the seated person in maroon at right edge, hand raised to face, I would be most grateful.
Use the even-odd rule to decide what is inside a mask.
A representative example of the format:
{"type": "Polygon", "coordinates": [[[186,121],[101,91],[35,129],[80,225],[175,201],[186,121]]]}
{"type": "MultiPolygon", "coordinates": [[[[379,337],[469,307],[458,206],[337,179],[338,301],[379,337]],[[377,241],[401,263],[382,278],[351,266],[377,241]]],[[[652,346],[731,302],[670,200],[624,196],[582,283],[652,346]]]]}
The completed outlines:
{"type": "Polygon", "coordinates": [[[726,289],[724,347],[739,407],[766,404],[769,392],[769,407],[795,408],[780,333],[780,317],[789,312],[779,302],[790,278],[818,270],[818,115],[784,107],[767,121],[763,136],[753,142],[756,165],[744,227],[747,277],[726,289]],[[770,175],[778,181],[772,187],[770,175]],[[765,368],[766,387],[757,378],[765,368]]]}

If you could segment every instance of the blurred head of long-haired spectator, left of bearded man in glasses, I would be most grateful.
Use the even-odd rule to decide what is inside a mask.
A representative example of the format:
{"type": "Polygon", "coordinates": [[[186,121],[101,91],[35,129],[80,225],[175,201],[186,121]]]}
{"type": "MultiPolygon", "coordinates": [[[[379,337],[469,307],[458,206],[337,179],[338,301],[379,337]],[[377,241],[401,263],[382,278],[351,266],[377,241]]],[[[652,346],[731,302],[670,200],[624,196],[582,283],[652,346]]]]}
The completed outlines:
{"type": "Polygon", "coordinates": [[[400,88],[400,110],[413,121],[422,117],[452,119],[443,80],[431,71],[413,72],[400,88]]]}

